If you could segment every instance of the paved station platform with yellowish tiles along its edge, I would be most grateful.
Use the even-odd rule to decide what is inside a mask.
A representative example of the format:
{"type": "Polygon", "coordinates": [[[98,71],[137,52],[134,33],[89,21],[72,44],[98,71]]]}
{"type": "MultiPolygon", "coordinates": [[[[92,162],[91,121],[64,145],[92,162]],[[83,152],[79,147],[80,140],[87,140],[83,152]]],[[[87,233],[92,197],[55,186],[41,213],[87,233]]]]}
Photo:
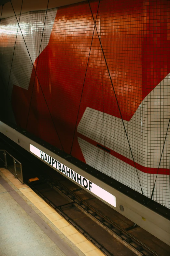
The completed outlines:
{"type": "Polygon", "coordinates": [[[0,255],[104,254],[31,188],[0,168],[0,255]]]}

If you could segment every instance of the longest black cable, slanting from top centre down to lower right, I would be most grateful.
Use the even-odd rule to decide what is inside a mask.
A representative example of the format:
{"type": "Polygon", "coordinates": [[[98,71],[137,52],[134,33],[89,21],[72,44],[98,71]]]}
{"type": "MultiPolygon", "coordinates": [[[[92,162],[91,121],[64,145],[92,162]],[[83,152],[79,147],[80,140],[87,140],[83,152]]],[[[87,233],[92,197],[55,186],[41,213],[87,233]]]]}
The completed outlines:
{"type": "MultiPolygon", "coordinates": [[[[91,9],[89,0],[88,0],[88,3],[89,3],[89,7],[90,7],[90,10],[91,10],[91,13],[92,13],[92,9],[91,9]]],[[[93,21],[94,21],[93,14],[92,14],[92,18],[93,18],[93,21]]],[[[96,27],[95,22],[94,22],[94,26],[95,26],[96,31],[97,31],[97,27],[96,27]]],[[[138,177],[138,180],[139,180],[141,192],[142,192],[142,195],[143,195],[144,193],[143,193],[142,186],[141,186],[140,179],[139,179],[139,175],[138,175],[138,172],[137,172],[137,168],[136,168],[134,156],[133,156],[133,153],[132,153],[131,145],[130,145],[130,142],[129,142],[129,139],[128,139],[128,135],[127,135],[127,132],[126,132],[126,128],[125,128],[124,122],[123,122],[123,118],[122,118],[122,114],[121,114],[121,111],[120,111],[120,107],[119,107],[118,99],[117,99],[117,96],[116,96],[115,88],[114,88],[114,86],[113,86],[112,78],[111,78],[110,71],[109,71],[109,68],[108,68],[108,65],[107,65],[105,53],[104,53],[104,50],[103,50],[103,47],[102,47],[102,43],[101,43],[101,40],[100,40],[98,31],[97,31],[97,35],[98,35],[98,38],[99,38],[99,41],[100,41],[100,46],[101,46],[102,53],[103,53],[103,56],[104,56],[104,59],[105,59],[105,62],[106,62],[107,71],[108,71],[109,78],[110,78],[110,81],[111,81],[111,84],[112,84],[113,92],[114,92],[114,94],[115,94],[116,102],[117,102],[117,104],[118,104],[118,109],[119,109],[119,112],[120,112],[121,120],[122,120],[122,123],[123,123],[123,127],[124,127],[124,130],[125,130],[126,138],[127,138],[127,141],[128,141],[128,144],[129,144],[129,148],[130,148],[130,151],[131,151],[131,155],[132,155],[132,158],[133,158],[133,162],[134,162],[134,165],[135,165],[135,170],[136,170],[137,177],[138,177]]]]}

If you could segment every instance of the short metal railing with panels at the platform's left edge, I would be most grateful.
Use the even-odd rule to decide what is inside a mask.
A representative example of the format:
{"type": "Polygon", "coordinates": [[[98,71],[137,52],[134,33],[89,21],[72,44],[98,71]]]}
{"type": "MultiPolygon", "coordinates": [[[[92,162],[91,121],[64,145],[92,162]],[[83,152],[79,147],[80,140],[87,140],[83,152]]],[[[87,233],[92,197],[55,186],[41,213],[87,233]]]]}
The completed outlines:
{"type": "Polygon", "coordinates": [[[5,168],[23,184],[22,164],[4,149],[0,149],[0,160],[4,163],[5,168]]]}

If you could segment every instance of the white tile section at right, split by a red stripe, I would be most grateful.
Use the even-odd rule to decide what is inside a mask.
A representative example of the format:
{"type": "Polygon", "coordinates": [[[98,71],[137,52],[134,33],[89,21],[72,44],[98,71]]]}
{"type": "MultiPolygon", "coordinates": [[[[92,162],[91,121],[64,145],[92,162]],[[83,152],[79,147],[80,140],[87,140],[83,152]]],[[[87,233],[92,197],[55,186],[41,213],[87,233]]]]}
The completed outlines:
{"type": "MultiPolygon", "coordinates": [[[[142,101],[131,120],[129,122],[124,120],[134,160],[142,166],[149,168],[159,166],[169,122],[169,92],[170,74],[142,101]]],[[[87,107],[78,125],[78,132],[132,160],[120,118],[87,107]],[[105,133],[100,130],[105,130],[105,133]]],[[[167,132],[160,168],[170,168],[169,141],[170,130],[167,132]]],[[[88,141],[78,138],[78,142],[87,164],[141,193],[140,180],[144,195],[151,196],[156,174],[137,169],[138,180],[135,167],[88,141]]],[[[169,175],[158,174],[152,198],[168,208],[170,207],[169,186],[169,175]]]]}

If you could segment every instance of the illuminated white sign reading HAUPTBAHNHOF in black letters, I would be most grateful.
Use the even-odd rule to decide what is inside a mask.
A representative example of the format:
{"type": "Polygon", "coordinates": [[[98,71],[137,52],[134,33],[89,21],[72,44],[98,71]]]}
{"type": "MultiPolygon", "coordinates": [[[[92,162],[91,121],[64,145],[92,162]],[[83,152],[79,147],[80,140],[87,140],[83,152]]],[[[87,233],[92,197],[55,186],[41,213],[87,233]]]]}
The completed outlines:
{"type": "Polygon", "coordinates": [[[83,176],[79,175],[77,172],[71,170],[66,165],[62,164],[61,162],[57,161],[56,159],[50,157],[40,149],[36,148],[35,146],[30,144],[30,151],[39,157],[44,162],[50,164],[55,169],[59,170],[63,173],[66,177],[76,181],[82,187],[88,189],[92,192],[95,196],[100,197],[107,203],[111,204],[112,206],[116,207],[116,197],[104,190],[103,188],[97,186],[90,180],[84,178],[83,176]]]}

